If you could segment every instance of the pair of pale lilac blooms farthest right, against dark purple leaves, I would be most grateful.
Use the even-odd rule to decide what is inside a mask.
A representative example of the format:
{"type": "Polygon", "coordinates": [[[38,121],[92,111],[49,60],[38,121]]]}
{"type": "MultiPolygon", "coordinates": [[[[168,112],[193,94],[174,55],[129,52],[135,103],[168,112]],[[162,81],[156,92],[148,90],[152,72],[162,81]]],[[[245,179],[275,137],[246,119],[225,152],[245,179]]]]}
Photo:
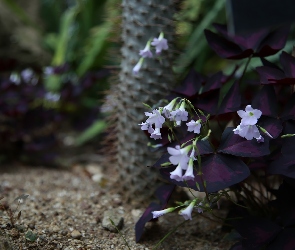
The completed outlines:
{"type": "MultiPolygon", "coordinates": [[[[242,118],[242,120],[240,125],[233,130],[234,133],[243,138],[246,138],[247,140],[252,140],[253,138],[255,138],[257,142],[264,142],[264,138],[261,136],[256,125],[258,119],[262,115],[262,112],[258,109],[253,109],[251,105],[247,105],[245,111],[239,110],[237,113],[242,118]]],[[[272,136],[265,129],[260,129],[262,129],[264,133],[272,138],[272,136]]]]}

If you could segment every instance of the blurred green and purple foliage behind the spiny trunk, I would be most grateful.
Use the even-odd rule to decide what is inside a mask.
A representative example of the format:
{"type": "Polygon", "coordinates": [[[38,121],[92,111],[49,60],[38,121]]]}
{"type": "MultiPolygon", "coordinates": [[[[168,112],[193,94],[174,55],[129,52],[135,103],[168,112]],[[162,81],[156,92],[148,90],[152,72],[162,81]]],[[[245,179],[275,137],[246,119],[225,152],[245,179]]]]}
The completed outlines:
{"type": "MultiPolygon", "coordinates": [[[[68,166],[96,154],[120,66],[120,2],[0,0],[0,164],[68,166]]],[[[180,79],[189,67],[232,71],[203,33],[226,22],[224,0],[179,1],[175,20],[180,79]]]]}

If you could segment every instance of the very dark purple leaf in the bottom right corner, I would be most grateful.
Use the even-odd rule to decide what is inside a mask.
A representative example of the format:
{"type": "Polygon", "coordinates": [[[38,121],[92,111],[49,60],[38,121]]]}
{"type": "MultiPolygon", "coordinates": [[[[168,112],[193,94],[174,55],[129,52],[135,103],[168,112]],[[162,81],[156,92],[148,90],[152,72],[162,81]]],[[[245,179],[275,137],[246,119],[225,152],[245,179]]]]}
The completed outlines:
{"type": "Polygon", "coordinates": [[[295,228],[285,228],[275,238],[273,242],[269,244],[267,250],[291,250],[295,249],[295,228]]]}

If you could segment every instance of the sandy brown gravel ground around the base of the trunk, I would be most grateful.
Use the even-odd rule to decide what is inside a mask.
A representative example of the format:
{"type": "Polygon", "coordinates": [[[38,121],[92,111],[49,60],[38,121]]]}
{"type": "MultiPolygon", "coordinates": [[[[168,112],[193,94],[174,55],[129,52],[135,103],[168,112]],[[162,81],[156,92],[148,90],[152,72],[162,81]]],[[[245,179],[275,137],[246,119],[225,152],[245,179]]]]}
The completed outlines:
{"type": "MultiPolygon", "coordinates": [[[[121,233],[130,249],[152,249],[173,225],[183,221],[177,214],[148,223],[140,243],[135,242],[134,225],[143,205],[126,204],[114,191],[115,175],[103,173],[100,165],[50,169],[28,166],[0,167],[1,203],[16,209],[15,199],[29,194],[19,205],[21,217],[11,227],[6,213],[0,211],[0,249],[128,249],[123,238],[102,227],[104,211],[116,209],[124,218],[121,233]],[[113,176],[112,179],[106,176],[113,176]],[[34,239],[35,237],[35,239],[34,239]]],[[[17,214],[16,212],[16,214],[17,214]]],[[[226,211],[218,211],[224,216],[226,211]]],[[[188,221],[158,249],[229,249],[222,240],[221,225],[201,216],[188,221]]]]}

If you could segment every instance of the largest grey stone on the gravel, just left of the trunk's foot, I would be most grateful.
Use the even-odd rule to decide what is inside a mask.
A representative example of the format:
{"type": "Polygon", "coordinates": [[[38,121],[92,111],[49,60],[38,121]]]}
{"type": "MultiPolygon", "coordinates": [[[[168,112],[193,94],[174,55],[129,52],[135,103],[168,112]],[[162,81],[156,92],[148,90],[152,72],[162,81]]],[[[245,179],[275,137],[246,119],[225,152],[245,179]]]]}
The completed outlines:
{"type": "Polygon", "coordinates": [[[103,228],[118,233],[118,230],[121,230],[123,228],[124,224],[124,218],[121,215],[121,211],[118,209],[110,209],[107,211],[104,211],[103,213],[103,219],[102,219],[102,226],[103,228]],[[114,225],[112,225],[110,219],[114,222],[114,225]],[[117,229],[116,229],[117,228],[117,229]]]}

